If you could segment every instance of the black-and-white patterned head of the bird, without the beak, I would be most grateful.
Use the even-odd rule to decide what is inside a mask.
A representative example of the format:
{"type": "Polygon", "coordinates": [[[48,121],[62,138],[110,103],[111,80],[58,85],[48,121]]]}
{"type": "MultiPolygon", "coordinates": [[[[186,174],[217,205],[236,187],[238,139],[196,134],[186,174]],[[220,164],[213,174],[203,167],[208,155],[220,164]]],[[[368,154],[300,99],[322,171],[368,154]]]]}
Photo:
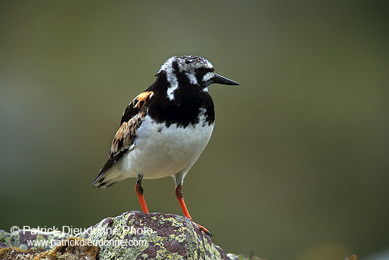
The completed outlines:
{"type": "Polygon", "coordinates": [[[170,86],[166,94],[170,101],[174,100],[174,91],[182,83],[201,86],[203,91],[208,91],[211,79],[216,75],[214,66],[208,60],[192,56],[174,56],[163,63],[158,74],[164,72],[170,86]]]}

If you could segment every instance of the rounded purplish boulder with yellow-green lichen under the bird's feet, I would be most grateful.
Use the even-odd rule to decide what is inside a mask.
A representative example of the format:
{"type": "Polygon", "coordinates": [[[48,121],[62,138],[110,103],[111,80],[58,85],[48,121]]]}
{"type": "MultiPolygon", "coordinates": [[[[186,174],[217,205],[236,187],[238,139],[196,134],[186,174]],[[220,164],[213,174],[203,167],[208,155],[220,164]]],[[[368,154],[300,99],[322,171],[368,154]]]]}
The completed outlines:
{"type": "Polygon", "coordinates": [[[79,235],[98,245],[99,259],[238,259],[212,243],[187,217],[131,211],[79,235]],[[105,244],[104,244],[105,243],[105,244]]]}

